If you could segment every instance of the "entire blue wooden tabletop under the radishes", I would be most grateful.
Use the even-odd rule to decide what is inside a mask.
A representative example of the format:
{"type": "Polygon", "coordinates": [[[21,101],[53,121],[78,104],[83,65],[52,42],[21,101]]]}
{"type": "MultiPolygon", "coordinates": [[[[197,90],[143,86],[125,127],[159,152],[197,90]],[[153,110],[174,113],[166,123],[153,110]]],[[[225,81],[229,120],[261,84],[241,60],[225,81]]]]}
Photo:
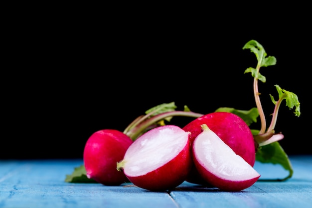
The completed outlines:
{"type": "Polygon", "coordinates": [[[240,192],[184,182],[171,192],[132,184],[104,186],[65,182],[82,160],[0,160],[0,208],[312,208],[312,155],[290,156],[294,175],[256,163],[261,178],[240,192]]]}

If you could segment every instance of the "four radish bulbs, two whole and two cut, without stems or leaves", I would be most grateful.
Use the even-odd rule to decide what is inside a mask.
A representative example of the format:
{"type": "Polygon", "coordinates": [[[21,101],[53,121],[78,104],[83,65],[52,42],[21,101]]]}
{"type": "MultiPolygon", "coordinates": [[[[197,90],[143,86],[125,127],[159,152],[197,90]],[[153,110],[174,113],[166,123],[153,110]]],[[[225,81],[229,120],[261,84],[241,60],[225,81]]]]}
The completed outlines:
{"type": "Polygon", "coordinates": [[[104,185],[129,180],[151,191],[174,189],[184,181],[240,191],[260,177],[253,169],[251,130],[233,113],[202,115],[183,128],[158,126],[132,141],[116,130],[94,133],[84,150],[87,177],[104,185]]]}

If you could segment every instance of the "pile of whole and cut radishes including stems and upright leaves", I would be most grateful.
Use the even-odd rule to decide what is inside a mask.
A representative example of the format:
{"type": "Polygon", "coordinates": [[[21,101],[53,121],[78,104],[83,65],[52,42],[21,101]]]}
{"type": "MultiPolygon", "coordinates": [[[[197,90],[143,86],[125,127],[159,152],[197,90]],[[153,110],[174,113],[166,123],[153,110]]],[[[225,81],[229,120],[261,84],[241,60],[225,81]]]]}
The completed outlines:
{"type": "MultiPolygon", "coordinates": [[[[175,111],[174,103],[161,104],[138,117],[124,132],[105,129],[95,132],[87,140],[83,159],[86,176],[103,185],[120,185],[132,182],[151,190],[171,190],[184,181],[209,185],[225,191],[240,191],[252,186],[260,175],[253,168],[257,150],[284,138],[275,134],[277,113],[281,101],[286,99],[290,108],[299,101],[294,93],[276,88],[278,101],[272,113],[272,122],[266,130],[257,81],[265,81],[259,73],[261,66],[274,65],[274,57],[266,53],[257,41],[251,40],[249,48],[258,59],[257,68],[248,68],[254,76],[254,93],[262,128],[252,133],[249,125],[237,113],[194,113],[186,106],[175,111]],[[194,117],[184,127],[166,125],[173,116],[194,117]]],[[[224,109],[223,109],[224,110],[224,109]]],[[[224,111],[230,111],[225,109],[224,111]]],[[[235,111],[239,112],[239,111],[235,111]]],[[[240,112],[241,113],[241,112],[240,112]]]]}

